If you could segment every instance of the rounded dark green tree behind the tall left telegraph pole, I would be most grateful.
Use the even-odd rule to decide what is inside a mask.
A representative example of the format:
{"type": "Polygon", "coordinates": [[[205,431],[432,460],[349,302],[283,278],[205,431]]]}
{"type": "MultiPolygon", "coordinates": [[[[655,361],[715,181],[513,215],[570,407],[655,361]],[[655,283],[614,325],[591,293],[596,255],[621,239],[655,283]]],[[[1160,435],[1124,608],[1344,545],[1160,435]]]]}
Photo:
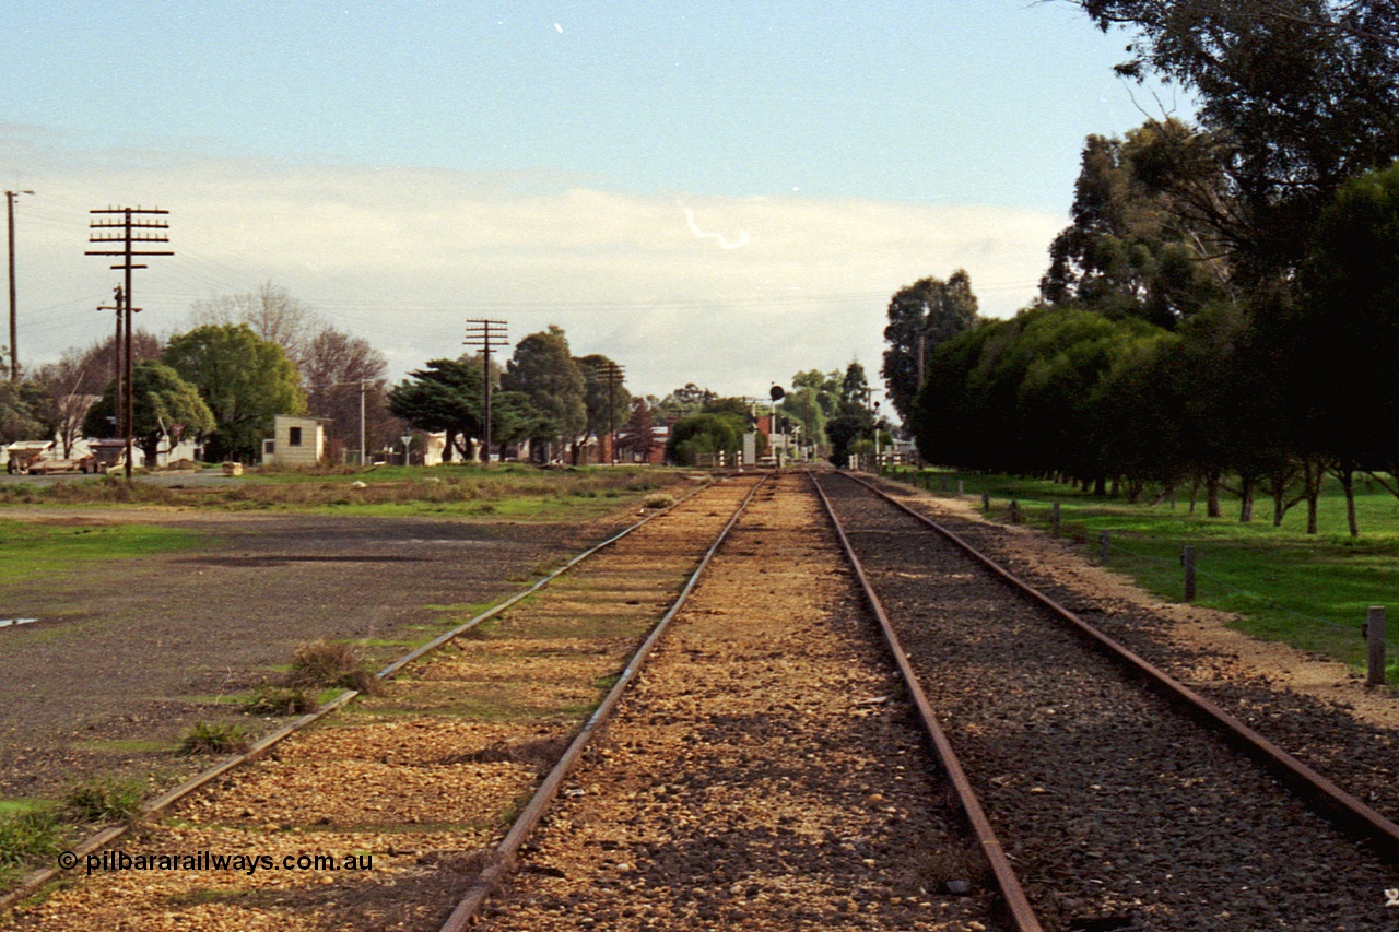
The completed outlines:
{"type": "MultiPolygon", "coordinates": [[[[147,466],[157,463],[161,441],[166,442],[166,449],[173,449],[185,438],[197,439],[214,430],[214,414],[199,396],[199,389],[171,367],[155,361],[140,362],[132,368],[132,437],[141,448],[147,466]]],[[[88,410],[83,432],[105,437],[111,432],[115,414],[116,390],[108,386],[88,410]]]]}

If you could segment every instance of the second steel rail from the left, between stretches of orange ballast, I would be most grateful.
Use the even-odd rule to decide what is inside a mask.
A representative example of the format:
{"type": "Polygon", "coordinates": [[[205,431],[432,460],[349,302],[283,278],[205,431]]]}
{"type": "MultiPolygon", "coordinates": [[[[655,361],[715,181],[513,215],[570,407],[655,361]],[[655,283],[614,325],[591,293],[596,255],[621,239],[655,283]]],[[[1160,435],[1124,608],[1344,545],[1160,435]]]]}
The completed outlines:
{"type": "Polygon", "coordinates": [[[637,677],[638,670],[641,670],[646,658],[651,656],[651,652],[660,641],[660,637],[666,633],[666,628],[670,627],[672,620],[680,614],[680,609],[684,607],[686,602],[690,599],[690,593],[694,592],[697,585],[700,585],[700,577],[704,575],[704,571],[709,567],[709,561],[713,558],[713,554],[718,553],[723,542],[727,540],[729,532],[739,523],[739,518],[741,518],[743,512],[748,508],[748,502],[753,501],[758,488],[761,488],[762,484],[771,479],[771,473],[765,473],[758,477],[758,481],[753,483],[753,488],[750,488],[748,494],[743,497],[741,502],[739,502],[739,507],[729,518],[729,522],[723,526],[723,530],[720,530],[719,536],[715,537],[712,544],[709,544],[709,549],[700,560],[700,564],[695,567],[694,572],[690,574],[690,579],[680,591],[680,595],[676,596],[674,603],[672,603],[670,609],[667,609],[655,627],[652,627],[651,634],[646,635],[646,640],[642,641],[639,648],[637,648],[631,661],[627,662],[627,668],[617,677],[617,683],[613,684],[603,701],[596,709],[593,709],[593,714],[578,730],[578,735],[574,737],[572,743],[569,743],[568,749],[564,750],[558,763],[555,763],[553,770],[548,771],[548,775],[544,777],[544,781],[530,798],[529,805],[525,806],[519,816],[515,817],[515,823],[505,834],[505,838],[495,845],[495,849],[491,852],[491,863],[481,870],[476,882],[463,894],[456,908],[452,910],[452,915],[449,915],[446,922],[442,925],[441,932],[464,932],[476,924],[481,907],[485,905],[487,897],[490,897],[491,891],[513,868],[519,849],[529,840],[540,819],[544,817],[544,812],[548,809],[548,805],[554,800],[560,788],[564,785],[564,778],[568,777],[568,771],[571,771],[574,764],[578,763],[578,758],[582,756],[583,750],[586,750],[588,743],[597,733],[599,728],[611,716],[617,704],[621,701],[623,693],[627,691],[627,687],[637,677]]]}

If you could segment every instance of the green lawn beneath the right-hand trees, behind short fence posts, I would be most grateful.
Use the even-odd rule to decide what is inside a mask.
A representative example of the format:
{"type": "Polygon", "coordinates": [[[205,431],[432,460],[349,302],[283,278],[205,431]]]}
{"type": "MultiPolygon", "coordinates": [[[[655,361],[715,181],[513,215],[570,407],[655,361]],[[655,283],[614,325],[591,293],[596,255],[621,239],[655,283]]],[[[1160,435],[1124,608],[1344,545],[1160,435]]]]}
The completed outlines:
{"type": "MultiPolygon", "coordinates": [[[[1363,666],[1365,645],[1360,626],[1370,606],[1399,593],[1399,500],[1372,480],[1357,481],[1361,536],[1351,539],[1346,502],[1330,484],[1322,495],[1318,535],[1307,535],[1305,504],[1273,526],[1270,498],[1255,501],[1254,521],[1238,521],[1237,497],[1226,497],[1221,518],[1205,516],[1200,498],[1193,514],[1189,490],[1170,501],[1129,505],[1095,498],[1072,486],[1013,476],[923,470],[916,484],[940,493],[947,480],[956,494],[992,497],[992,518],[1009,519],[1017,500],[1025,521],[1045,530],[1052,504],[1059,502],[1063,535],[1080,540],[1098,560],[1100,535],[1111,536],[1108,565],[1140,582],[1163,600],[1184,595],[1181,550],[1195,547],[1196,605],[1234,612],[1235,624],[1255,637],[1284,641],[1363,666]]],[[[909,473],[905,481],[912,481],[909,473]]],[[[1391,654],[1399,654],[1399,605],[1386,613],[1391,654]]]]}

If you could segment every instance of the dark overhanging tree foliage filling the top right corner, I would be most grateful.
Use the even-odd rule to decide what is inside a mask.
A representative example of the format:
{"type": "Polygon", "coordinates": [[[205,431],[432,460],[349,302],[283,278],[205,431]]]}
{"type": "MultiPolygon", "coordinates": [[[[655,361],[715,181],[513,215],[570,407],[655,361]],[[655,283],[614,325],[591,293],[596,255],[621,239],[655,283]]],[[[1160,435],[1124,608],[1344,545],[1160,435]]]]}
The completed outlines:
{"type": "Polygon", "coordinates": [[[1399,151],[1392,0],[1070,1],[1104,31],[1133,31],[1119,73],[1192,91],[1202,132],[1177,136],[1172,161],[1195,171],[1171,171],[1168,188],[1247,281],[1287,280],[1332,193],[1399,151]],[[1202,196],[1202,174],[1226,196],[1202,196]]]}

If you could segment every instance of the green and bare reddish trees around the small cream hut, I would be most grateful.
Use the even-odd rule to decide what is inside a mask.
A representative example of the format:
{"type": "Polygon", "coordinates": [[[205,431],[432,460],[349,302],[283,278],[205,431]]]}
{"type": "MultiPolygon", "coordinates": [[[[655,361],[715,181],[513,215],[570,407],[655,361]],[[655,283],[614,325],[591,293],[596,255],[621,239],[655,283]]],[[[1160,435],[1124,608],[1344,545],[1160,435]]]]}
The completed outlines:
{"type": "MultiPolygon", "coordinates": [[[[148,463],[183,439],[213,462],[256,460],[276,414],[308,410],[333,448],[358,445],[361,386],[368,437],[388,442],[400,427],[385,409],[383,354],[271,283],[196,302],[190,325],[132,334],[132,430],[148,463]]],[[[116,360],[109,337],[0,385],[0,441],[56,438],[70,456],[83,437],[115,437],[116,360]]]]}

